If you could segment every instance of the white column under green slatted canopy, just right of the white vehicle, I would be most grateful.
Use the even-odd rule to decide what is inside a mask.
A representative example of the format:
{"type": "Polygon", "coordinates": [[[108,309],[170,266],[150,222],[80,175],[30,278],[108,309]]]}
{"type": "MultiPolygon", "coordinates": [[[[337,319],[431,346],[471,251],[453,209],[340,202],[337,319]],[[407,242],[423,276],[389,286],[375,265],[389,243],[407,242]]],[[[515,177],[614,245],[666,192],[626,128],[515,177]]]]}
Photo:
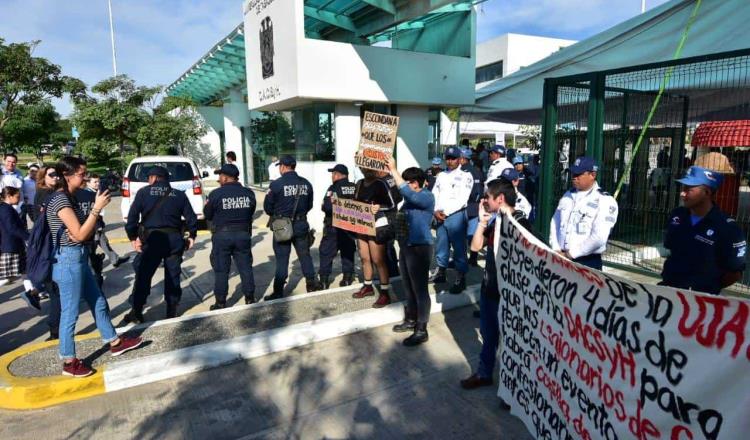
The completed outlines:
{"type": "MultiPolygon", "coordinates": [[[[250,125],[250,110],[244,102],[242,91],[230,90],[229,99],[224,102],[224,153],[233,151],[237,155],[237,168],[240,169],[240,182],[252,181],[252,152],[242,144],[242,127],[250,125]],[[248,161],[249,159],[249,161],[248,161]],[[250,167],[248,168],[248,164],[250,167]]],[[[249,129],[246,129],[249,136],[249,129]]],[[[223,160],[223,158],[222,158],[223,160]]]]}

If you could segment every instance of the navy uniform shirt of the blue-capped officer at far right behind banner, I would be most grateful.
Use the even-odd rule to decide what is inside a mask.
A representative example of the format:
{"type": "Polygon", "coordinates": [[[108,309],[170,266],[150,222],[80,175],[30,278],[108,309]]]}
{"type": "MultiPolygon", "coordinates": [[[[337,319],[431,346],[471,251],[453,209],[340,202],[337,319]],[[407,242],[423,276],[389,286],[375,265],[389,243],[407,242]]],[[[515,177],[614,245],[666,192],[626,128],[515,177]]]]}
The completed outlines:
{"type": "Polygon", "coordinates": [[[723,274],[745,270],[745,234],[716,206],[695,226],[689,209],[672,211],[664,247],[670,251],[661,273],[667,286],[718,295],[723,274]]]}

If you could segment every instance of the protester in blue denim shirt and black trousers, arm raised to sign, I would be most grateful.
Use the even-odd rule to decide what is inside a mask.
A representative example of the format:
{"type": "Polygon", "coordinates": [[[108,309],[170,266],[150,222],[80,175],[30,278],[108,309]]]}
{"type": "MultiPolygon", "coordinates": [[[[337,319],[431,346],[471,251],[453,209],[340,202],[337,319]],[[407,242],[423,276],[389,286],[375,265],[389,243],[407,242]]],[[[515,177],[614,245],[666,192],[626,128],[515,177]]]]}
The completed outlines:
{"type": "Polygon", "coordinates": [[[399,267],[406,291],[404,321],[393,327],[394,332],[414,333],[404,339],[404,345],[414,346],[427,342],[427,322],[430,319],[430,293],[428,277],[432,260],[432,213],[435,196],[425,188],[427,175],[419,168],[407,168],[403,177],[398,175],[396,162],[388,162],[398,189],[404,197],[401,212],[406,216],[407,236],[401,240],[399,267]]]}

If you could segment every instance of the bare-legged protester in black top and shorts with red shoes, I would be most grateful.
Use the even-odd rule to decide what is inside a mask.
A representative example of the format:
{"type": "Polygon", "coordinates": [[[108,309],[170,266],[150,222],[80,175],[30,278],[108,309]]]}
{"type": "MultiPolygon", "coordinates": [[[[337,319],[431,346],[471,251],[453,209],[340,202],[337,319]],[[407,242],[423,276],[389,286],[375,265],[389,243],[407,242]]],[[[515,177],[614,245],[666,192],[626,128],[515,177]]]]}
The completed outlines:
{"type": "Polygon", "coordinates": [[[374,237],[364,234],[357,235],[357,247],[359,248],[359,256],[362,259],[362,272],[364,272],[365,280],[362,288],[355,292],[352,297],[364,298],[375,295],[375,289],[372,287],[372,267],[375,265],[380,277],[380,294],[373,307],[379,308],[391,303],[391,298],[388,295],[390,278],[385,247],[388,241],[393,239],[394,232],[393,225],[389,223],[384,211],[393,209],[396,203],[391,197],[388,184],[379,178],[377,171],[362,169],[362,173],[365,178],[357,182],[354,200],[373,205],[372,211],[375,213],[376,229],[374,237]]]}

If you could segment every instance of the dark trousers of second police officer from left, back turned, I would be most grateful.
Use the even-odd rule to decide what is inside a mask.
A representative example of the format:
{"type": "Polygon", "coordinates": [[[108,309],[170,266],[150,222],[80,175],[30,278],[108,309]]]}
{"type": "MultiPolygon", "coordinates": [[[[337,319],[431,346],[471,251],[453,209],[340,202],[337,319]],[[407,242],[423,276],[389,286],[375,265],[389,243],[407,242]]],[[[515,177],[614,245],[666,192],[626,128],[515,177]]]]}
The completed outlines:
{"type": "Polygon", "coordinates": [[[232,259],[242,281],[245,299],[255,301],[252,236],[249,232],[216,232],[211,237],[211,266],[214,269],[214,296],[223,303],[229,293],[229,270],[232,259]]]}

